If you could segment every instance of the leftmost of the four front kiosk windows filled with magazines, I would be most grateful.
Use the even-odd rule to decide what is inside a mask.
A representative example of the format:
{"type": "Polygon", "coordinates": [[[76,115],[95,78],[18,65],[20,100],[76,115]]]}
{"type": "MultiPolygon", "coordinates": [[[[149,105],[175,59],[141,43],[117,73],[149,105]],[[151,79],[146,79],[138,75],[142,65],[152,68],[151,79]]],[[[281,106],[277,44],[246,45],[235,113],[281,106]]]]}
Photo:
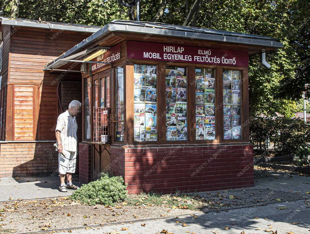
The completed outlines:
{"type": "Polygon", "coordinates": [[[134,64],[135,141],[157,140],[156,65],[134,64]]]}

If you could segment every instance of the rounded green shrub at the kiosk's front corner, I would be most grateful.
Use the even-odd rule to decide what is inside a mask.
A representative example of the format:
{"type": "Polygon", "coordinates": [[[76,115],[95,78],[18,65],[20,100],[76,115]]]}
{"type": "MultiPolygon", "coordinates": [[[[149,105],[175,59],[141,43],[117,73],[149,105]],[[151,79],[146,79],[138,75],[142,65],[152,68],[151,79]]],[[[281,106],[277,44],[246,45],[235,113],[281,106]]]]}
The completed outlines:
{"type": "Polygon", "coordinates": [[[100,179],[82,185],[69,199],[87,205],[113,205],[127,197],[126,185],[122,176],[102,173],[100,179]]]}

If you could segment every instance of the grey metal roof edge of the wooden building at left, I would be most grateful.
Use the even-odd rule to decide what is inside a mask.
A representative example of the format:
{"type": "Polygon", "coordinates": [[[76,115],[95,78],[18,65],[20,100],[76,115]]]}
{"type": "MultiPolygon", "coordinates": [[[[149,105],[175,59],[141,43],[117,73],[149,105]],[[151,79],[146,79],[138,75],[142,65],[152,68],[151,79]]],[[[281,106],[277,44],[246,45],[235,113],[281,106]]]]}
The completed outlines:
{"type": "Polygon", "coordinates": [[[1,24],[20,27],[31,27],[41,29],[54,29],[64,31],[75,31],[81,33],[95,33],[100,30],[101,27],[88,26],[82,24],[57,24],[55,22],[40,23],[40,21],[25,21],[25,20],[7,20],[7,18],[1,17],[1,24]]]}

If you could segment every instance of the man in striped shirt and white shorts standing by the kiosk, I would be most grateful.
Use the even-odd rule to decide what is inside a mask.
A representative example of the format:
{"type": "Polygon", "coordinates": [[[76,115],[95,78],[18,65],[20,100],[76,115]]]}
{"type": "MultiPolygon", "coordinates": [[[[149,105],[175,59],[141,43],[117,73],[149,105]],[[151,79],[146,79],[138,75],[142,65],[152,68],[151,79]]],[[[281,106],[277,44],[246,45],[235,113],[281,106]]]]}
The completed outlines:
{"type": "Polygon", "coordinates": [[[57,118],[55,135],[58,150],[58,170],[60,176],[60,192],[67,192],[67,188],[78,189],[78,186],[72,183],[72,173],[75,172],[77,155],[77,130],[78,124],[76,115],[80,112],[81,103],[73,100],[69,104],[68,110],[60,114],[57,118]],[[67,186],[64,183],[67,174],[67,186]]]}

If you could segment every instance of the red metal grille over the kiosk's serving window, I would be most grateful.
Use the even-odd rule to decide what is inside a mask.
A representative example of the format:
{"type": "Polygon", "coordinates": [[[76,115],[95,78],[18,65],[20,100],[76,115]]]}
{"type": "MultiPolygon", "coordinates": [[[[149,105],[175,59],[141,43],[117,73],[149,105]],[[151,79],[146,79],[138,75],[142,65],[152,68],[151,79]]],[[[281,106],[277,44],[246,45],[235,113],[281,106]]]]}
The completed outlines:
{"type": "Polygon", "coordinates": [[[93,112],[93,142],[110,142],[110,108],[94,107],[93,112]]]}

